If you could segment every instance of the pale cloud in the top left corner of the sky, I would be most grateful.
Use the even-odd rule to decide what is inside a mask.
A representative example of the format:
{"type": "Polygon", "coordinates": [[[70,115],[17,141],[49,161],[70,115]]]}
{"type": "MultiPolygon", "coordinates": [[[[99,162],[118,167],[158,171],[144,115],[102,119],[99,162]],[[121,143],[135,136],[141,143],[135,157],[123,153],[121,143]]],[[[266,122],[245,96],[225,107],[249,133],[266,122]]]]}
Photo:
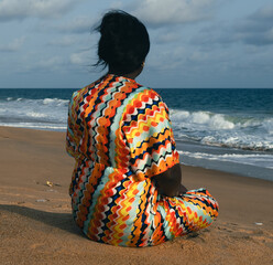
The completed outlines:
{"type": "Polygon", "coordinates": [[[26,18],[58,18],[70,11],[83,0],[2,0],[0,21],[22,20],[26,18]]]}

